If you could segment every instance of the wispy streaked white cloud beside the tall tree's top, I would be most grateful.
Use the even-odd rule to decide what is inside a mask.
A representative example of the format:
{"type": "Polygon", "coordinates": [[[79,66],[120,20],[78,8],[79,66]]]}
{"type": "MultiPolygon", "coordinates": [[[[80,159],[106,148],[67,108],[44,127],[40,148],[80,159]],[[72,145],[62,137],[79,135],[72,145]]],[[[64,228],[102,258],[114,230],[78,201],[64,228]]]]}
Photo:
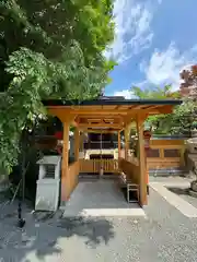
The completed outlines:
{"type": "Polygon", "coordinates": [[[115,40],[105,51],[106,57],[113,57],[120,63],[150,46],[153,37],[150,28],[153,9],[148,5],[150,1],[115,0],[115,40]]]}

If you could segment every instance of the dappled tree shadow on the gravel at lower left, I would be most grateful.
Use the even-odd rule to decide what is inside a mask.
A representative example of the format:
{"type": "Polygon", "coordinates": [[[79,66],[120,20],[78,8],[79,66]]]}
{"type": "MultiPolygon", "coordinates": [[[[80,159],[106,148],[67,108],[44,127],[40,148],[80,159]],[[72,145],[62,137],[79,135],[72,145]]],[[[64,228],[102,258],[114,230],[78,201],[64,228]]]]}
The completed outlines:
{"type": "Polygon", "coordinates": [[[68,245],[74,250],[76,242],[71,245],[70,239],[73,236],[93,249],[114,238],[113,225],[105,218],[62,218],[60,211],[31,214],[28,207],[23,207],[25,227],[19,229],[18,214],[13,209],[16,211],[16,205],[9,206],[9,212],[8,206],[0,206],[0,261],[47,261],[48,255],[61,255],[62,247],[65,252],[68,245]]]}

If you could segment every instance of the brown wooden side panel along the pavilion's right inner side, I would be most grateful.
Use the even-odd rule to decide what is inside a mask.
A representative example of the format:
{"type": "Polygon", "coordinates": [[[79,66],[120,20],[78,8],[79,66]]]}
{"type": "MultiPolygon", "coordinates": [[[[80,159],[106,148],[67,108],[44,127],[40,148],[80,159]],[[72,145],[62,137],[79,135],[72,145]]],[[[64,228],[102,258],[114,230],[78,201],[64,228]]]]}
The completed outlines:
{"type": "Polygon", "coordinates": [[[127,179],[140,186],[140,168],[137,162],[119,158],[118,165],[119,169],[127,176],[127,179]]]}

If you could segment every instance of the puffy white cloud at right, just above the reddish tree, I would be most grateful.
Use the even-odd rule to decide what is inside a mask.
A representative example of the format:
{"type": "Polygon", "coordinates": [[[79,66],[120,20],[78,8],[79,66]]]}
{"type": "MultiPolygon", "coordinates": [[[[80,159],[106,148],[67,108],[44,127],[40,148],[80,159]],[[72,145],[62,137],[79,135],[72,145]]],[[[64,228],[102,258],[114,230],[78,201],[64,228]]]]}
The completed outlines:
{"type": "Polygon", "coordinates": [[[181,83],[179,72],[188,64],[195,63],[196,56],[197,45],[188,51],[181,52],[175,44],[171,44],[163,52],[155,50],[148,64],[144,61],[140,64],[140,70],[144,72],[148,83],[169,83],[177,90],[181,83]]]}

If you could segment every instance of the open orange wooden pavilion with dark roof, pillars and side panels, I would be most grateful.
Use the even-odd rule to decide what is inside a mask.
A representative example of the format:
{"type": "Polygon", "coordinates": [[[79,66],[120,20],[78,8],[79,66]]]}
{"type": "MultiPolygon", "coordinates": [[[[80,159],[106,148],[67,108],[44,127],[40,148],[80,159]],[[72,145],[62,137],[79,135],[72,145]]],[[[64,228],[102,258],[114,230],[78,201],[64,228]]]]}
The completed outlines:
{"type": "MultiPolygon", "coordinates": [[[[123,97],[102,97],[94,100],[44,100],[48,112],[58,117],[63,126],[63,145],[61,160],[61,203],[70,198],[78,184],[79,172],[95,170],[93,159],[79,157],[80,135],[82,132],[117,132],[118,159],[105,159],[103,171],[124,172],[139,187],[139,204],[148,203],[148,177],[144,151],[144,120],[152,115],[171,114],[173,107],[179,105],[178,99],[124,99],[123,97]],[[128,155],[128,128],[136,122],[138,133],[138,159],[128,155]],[[74,162],[69,164],[69,129],[74,131],[74,162]],[[125,131],[125,156],[120,154],[120,132],[125,131]]],[[[150,145],[151,146],[151,145],[150,145]]],[[[96,159],[100,160],[100,159],[96,159]]],[[[102,162],[102,159],[101,159],[102,162]]],[[[171,162],[172,163],[172,162],[171,162]]]]}

